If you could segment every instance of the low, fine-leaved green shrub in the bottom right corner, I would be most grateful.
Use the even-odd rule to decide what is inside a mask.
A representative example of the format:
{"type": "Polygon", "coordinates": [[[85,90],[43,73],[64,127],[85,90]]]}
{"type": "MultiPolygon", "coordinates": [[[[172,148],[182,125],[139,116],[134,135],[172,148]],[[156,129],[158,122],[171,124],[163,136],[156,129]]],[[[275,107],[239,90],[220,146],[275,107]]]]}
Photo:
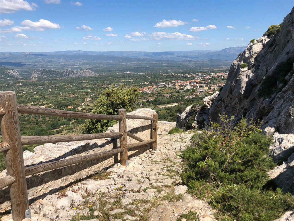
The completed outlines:
{"type": "Polygon", "coordinates": [[[239,221],[269,221],[279,218],[291,207],[291,198],[290,194],[283,194],[280,189],[261,191],[245,185],[233,185],[215,192],[211,204],[219,211],[218,220],[234,217],[239,221]]]}

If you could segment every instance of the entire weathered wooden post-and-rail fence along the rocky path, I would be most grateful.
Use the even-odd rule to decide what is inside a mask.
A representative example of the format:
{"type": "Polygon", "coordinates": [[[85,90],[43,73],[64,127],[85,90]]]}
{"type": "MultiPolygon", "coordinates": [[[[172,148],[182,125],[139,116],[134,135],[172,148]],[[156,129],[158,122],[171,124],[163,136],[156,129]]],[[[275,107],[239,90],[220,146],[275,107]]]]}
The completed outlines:
{"type": "Polygon", "coordinates": [[[126,115],[125,109],[119,109],[118,115],[102,115],[20,105],[16,103],[16,93],[14,91],[0,91],[0,123],[3,139],[3,142],[0,143],[0,153],[5,153],[7,170],[7,176],[0,179],[0,189],[6,186],[9,186],[10,188],[9,192],[12,216],[14,220],[22,220],[26,217],[30,217],[26,176],[89,160],[102,159],[118,153],[120,153],[121,165],[127,166],[128,149],[142,145],[146,146],[148,144],[151,149],[157,149],[157,114],[153,114],[153,117],[126,115]],[[18,117],[19,113],[80,119],[118,120],[119,132],[60,136],[21,136],[18,117]],[[150,140],[144,141],[127,131],[126,119],[150,120],[150,140]],[[139,141],[139,143],[127,144],[127,136],[139,141]],[[120,147],[117,149],[24,167],[22,145],[82,141],[113,137],[119,137],[120,147]]]}

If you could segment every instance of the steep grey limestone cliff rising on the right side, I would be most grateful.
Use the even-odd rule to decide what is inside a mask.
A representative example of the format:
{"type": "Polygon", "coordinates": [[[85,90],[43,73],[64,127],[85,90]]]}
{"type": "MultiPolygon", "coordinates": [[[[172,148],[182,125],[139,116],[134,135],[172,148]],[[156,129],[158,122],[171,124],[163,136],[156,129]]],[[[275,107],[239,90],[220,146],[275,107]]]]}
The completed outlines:
{"type": "Polygon", "coordinates": [[[263,120],[263,128],[294,133],[294,8],[280,32],[250,43],[232,63],[220,95],[210,109],[212,121],[226,113],[263,120]],[[241,68],[241,64],[248,66],[241,68]]]}

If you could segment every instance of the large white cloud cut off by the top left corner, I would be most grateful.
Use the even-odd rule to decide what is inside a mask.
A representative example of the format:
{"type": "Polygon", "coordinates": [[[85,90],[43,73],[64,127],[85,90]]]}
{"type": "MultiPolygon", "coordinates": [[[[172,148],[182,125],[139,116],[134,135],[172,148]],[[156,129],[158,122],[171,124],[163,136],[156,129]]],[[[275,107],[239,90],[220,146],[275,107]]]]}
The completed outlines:
{"type": "Polygon", "coordinates": [[[35,3],[29,4],[23,0],[1,0],[0,13],[14,13],[19,10],[33,11],[36,10],[35,3]]]}

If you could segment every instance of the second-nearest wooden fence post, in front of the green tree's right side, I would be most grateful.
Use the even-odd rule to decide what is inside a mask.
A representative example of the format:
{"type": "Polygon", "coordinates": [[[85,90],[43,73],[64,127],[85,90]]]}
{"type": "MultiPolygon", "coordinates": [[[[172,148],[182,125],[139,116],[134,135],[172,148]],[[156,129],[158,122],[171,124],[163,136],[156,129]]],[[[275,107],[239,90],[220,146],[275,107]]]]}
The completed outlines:
{"type": "Polygon", "coordinates": [[[118,121],[119,132],[123,132],[123,136],[119,138],[119,145],[123,148],[123,152],[121,152],[121,165],[128,166],[126,109],[118,109],[118,115],[123,118],[118,121]]]}

